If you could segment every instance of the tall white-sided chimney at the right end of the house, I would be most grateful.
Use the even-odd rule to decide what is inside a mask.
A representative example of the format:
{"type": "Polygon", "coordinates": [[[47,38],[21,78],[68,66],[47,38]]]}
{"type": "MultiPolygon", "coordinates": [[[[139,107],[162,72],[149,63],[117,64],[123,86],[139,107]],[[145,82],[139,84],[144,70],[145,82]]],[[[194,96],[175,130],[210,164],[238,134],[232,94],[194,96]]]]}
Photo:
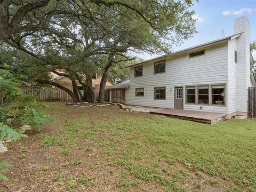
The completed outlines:
{"type": "Polygon", "coordinates": [[[249,21],[246,17],[235,20],[235,34],[242,33],[237,38],[237,105],[240,112],[247,112],[247,87],[250,86],[250,42],[249,21]]]}

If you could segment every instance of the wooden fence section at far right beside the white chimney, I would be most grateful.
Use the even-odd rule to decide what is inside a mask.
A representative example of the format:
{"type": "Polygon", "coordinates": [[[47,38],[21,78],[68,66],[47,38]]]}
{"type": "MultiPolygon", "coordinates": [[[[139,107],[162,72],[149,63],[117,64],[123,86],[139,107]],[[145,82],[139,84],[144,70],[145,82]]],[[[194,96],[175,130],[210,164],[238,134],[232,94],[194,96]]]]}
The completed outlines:
{"type": "Polygon", "coordinates": [[[256,118],[256,87],[248,87],[248,118],[256,118]]]}

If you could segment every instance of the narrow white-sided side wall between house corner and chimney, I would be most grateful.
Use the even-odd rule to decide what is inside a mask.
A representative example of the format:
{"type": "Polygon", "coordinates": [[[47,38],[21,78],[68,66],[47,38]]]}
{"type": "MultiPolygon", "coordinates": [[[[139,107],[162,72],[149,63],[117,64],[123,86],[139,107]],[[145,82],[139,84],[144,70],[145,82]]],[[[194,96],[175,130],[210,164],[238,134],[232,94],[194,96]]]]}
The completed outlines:
{"type": "Polygon", "coordinates": [[[228,113],[236,112],[237,63],[235,62],[236,38],[228,41],[228,113]]]}

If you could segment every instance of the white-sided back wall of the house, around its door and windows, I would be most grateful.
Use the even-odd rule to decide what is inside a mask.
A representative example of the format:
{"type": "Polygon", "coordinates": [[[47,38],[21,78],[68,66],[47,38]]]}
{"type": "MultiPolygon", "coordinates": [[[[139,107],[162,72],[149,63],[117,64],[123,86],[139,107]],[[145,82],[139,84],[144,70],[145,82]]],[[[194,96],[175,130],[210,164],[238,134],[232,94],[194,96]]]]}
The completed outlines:
{"type": "Polygon", "coordinates": [[[174,108],[174,86],[183,86],[184,109],[227,113],[226,106],[188,105],[185,103],[186,85],[227,84],[228,82],[227,42],[207,46],[204,49],[205,55],[199,57],[189,58],[189,54],[186,52],[175,54],[169,60],[166,59],[165,73],[162,74],[154,75],[154,62],[157,60],[142,64],[142,77],[134,77],[134,66],[131,67],[130,87],[125,92],[126,104],[174,108]],[[154,87],[159,86],[166,87],[165,100],[154,99],[154,87]],[[140,87],[144,88],[144,97],[135,97],[135,88],[140,87]]]}

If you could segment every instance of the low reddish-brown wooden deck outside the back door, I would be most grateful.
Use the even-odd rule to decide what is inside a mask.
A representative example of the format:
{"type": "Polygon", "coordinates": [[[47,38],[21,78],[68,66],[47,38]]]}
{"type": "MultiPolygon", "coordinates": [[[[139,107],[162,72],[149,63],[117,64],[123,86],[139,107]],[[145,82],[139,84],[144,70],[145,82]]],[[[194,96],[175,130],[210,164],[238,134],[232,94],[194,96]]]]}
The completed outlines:
{"type": "Polygon", "coordinates": [[[183,110],[183,109],[161,109],[150,111],[151,114],[165,115],[168,117],[186,119],[189,121],[215,124],[228,118],[227,114],[209,113],[203,111],[183,110]]]}

